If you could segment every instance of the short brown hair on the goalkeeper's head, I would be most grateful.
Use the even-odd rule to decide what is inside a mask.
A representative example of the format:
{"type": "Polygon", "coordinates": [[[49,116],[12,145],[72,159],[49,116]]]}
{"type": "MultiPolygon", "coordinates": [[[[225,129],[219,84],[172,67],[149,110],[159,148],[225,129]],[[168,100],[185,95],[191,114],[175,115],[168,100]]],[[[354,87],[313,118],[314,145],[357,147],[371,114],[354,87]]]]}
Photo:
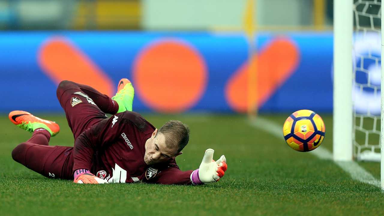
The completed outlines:
{"type": "Polygon", "coordinates": [[[169,120],[161,128],[159,132],[166,138],[168,147],[177,146],[177,152],[183,150],[189,141],[189,127],[181,121],[169,120]]]}

